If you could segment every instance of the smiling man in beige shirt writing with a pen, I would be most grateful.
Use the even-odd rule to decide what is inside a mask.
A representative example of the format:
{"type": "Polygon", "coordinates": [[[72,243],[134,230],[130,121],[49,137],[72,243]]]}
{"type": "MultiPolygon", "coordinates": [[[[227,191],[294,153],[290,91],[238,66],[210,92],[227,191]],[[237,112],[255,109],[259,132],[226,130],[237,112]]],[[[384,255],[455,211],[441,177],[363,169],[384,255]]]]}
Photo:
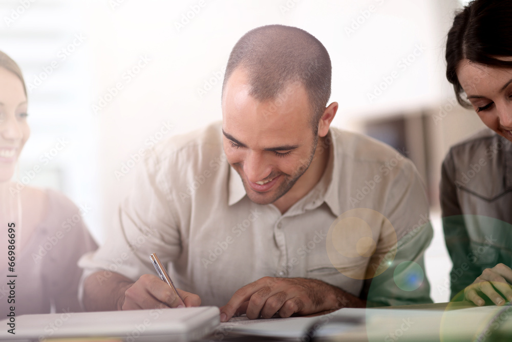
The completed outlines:
{"type": "Polygon", "coordinates": [[[81,259],[86,309],[178,306],[154,252],[185,305],[223,306],[222,321],[430,301],[426,279],[414,291],[396,283],[409,270],[396,266],[422,267],[432,238],[430,226],[413,230],[428,213],[419,176],[391,148],[330,128],[330,84],[329,55],[309,33],[246,33],[226,68],[222,123],[157,145],[108,240],[81,259]],[[368,209],[345,218],[357,208],[368,209]]]}

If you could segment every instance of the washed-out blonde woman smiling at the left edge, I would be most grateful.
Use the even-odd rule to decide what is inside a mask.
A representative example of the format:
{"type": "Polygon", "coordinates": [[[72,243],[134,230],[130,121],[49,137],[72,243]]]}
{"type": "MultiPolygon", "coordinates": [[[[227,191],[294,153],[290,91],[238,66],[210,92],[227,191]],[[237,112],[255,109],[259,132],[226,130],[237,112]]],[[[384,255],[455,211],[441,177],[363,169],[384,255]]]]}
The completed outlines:
{"type": "Polygon", "coordinates": [[[19,67],[0,51],[0,316],[81,311],[78,258],[96,243],[79,209],[53,190],[11,181],[30,136],[19,67]]]}

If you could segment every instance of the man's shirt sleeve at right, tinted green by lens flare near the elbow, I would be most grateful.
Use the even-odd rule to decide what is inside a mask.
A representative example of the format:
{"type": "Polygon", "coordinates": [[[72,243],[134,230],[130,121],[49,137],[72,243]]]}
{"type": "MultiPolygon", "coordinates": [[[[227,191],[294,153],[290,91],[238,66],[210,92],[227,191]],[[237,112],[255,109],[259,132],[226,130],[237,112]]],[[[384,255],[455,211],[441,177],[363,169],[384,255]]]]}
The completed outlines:
{"type": "Polygon", "coordinates": [[[369,267],[376,275],[364,285],[368,306],[432,303],[423,253],[433,230],[424,186],[410,160],[406,159],[392,180],[386,198],[385,212],[391,228],[382,229],[370,260],[369,267]],[[380,273],[379,268],[385,271],[380,273]]]}

